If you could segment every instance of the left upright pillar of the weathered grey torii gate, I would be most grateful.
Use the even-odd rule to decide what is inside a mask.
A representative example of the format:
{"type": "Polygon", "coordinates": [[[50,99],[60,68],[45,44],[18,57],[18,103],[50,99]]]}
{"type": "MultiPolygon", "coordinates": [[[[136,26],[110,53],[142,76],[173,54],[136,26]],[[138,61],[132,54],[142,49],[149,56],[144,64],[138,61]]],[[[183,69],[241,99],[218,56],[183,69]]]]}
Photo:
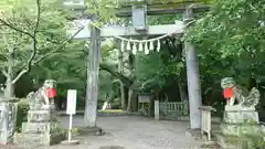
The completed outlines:
{"type": "Polygon", "coordinates": [[[95,26],[91,28],[91,49],[88,53],[84,120],[87,127],[95,127],[97,117],[98,70],[100,61],[100,30],[95,26]]]}

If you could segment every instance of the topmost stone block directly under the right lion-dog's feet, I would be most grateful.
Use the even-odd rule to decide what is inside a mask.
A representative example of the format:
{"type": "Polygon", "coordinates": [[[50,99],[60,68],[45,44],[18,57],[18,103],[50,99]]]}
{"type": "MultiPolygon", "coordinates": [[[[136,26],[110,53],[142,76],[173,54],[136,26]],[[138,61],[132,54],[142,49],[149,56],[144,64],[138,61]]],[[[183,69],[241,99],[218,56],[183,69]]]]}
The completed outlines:
{"type": "Polygon", "coordinates": [[[225,124],[258,124],[258,113],[255,110],[229,110],[224,111],[225,124]]]}

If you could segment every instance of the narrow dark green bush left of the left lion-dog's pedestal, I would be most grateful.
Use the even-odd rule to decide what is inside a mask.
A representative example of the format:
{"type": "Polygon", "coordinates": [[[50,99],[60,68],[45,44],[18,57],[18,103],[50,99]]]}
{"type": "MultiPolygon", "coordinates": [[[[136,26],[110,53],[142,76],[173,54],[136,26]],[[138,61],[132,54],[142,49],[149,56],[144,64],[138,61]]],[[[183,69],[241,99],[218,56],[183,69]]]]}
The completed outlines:
{"type": "Polygon", "coordinates": [[[26,121],[28,110],[29,110],[28,102],[25,98],[22,98],[18,104],[15,131],[21,132],[22,123],[26,121]]]}

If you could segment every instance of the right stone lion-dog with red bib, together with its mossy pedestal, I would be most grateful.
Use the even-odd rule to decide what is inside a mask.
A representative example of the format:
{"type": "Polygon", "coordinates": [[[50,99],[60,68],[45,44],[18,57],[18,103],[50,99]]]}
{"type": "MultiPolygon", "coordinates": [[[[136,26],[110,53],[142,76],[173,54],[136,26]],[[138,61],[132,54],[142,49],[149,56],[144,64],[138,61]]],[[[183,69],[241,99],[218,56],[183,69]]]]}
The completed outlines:
{"type": "Polygon", "coordinates": [[[253,149],[253,142],[261,136],[262,129],[256,111],[261,97],[258,89],[253,87],[248,92],[237,85],[233,77],[223,78],[221,87],[226,106],[220,124],[221,134],[216,136],[219,146],[225,149],[253,149]]]}

